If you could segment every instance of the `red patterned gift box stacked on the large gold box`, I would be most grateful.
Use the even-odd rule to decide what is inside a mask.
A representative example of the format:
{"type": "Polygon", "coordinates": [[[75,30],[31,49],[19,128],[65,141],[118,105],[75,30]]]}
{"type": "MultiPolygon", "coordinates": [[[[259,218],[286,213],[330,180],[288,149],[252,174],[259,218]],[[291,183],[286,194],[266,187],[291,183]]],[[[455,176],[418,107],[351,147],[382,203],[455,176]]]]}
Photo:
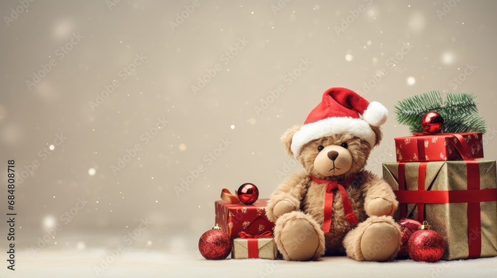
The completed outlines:
{"type": "Polygon", "coordinates": [[[483,134],[414,134],[395,138],[397,161],[444,161],[483,158],[483,134]]]}

